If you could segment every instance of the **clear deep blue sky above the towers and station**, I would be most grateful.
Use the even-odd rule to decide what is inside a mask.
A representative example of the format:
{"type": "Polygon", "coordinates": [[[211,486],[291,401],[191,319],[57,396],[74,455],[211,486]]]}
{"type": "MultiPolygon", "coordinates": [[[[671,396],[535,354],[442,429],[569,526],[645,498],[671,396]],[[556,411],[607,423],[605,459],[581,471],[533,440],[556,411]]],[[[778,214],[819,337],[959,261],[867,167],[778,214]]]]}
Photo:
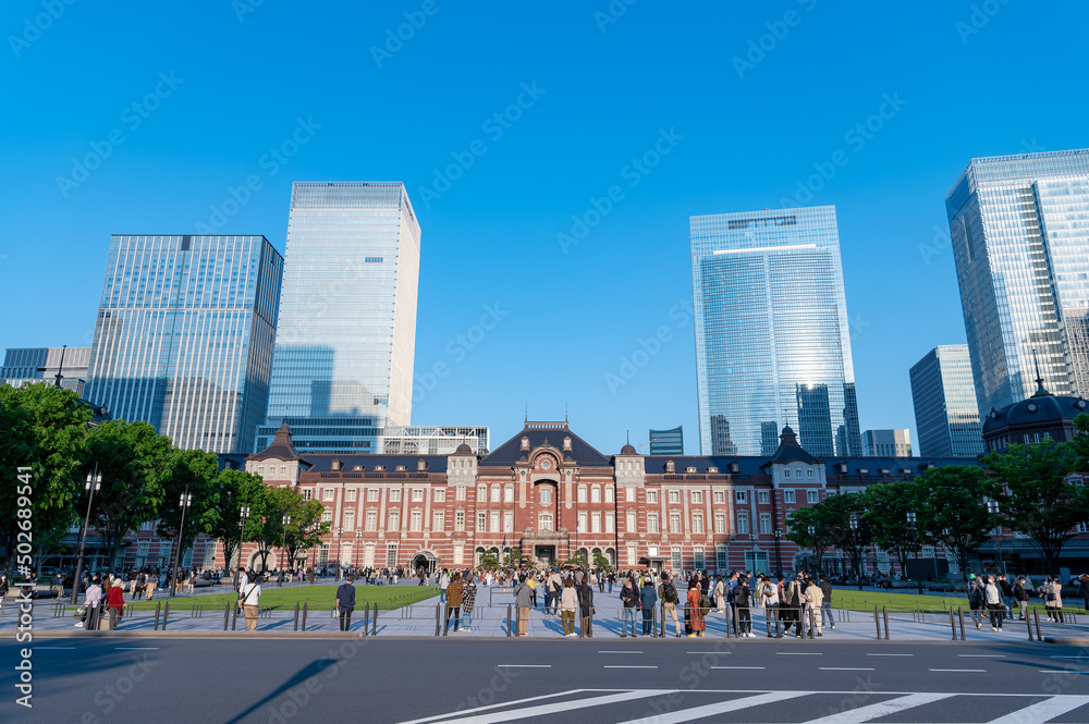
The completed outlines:
{"type": "Polygon", "coordinates": [[[965,340],[945,193],[1089,145],[1089,9],[628,2],[4,3],[0,347],[90,344],[112,233],[282,251],[292,181],[404,181],[414,424],[697,453],[688,217],[832,204],[862,429],[914,431],[965,340]]]}

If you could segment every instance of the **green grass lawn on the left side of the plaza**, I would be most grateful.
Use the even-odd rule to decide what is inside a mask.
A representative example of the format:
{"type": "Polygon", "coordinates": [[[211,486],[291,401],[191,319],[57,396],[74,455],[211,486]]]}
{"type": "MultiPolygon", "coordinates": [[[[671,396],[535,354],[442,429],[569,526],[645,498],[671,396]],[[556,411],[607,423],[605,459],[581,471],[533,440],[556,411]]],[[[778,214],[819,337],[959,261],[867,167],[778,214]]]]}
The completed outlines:
{"type": "MultiPolygon", "coordinates": [[[[171,600],[170,605],[172,609],[189,609],[194,605],[222,609],[228,603],[238,600],[237,594],[231,591],[230,584],[220,587],[224,589],[223,593],[176,598],[171,600]]],[[[389,611],[438,594],[439,589],[433,586],[356,586],[355,605],[362,609],[364,605],[378,603],[379,609],[389,611]]],[[[311,609],[331,609],[335,598],[335,586],[315,585],[293,588],[277,588],[276,584],[261,586],[262,609],[294,609],[296,603],[299,605],[307,603],[311,609]]],[[[154,609],[159,602],[161,601],[136,601],[133,605],[137,609],[154,609]]]]}

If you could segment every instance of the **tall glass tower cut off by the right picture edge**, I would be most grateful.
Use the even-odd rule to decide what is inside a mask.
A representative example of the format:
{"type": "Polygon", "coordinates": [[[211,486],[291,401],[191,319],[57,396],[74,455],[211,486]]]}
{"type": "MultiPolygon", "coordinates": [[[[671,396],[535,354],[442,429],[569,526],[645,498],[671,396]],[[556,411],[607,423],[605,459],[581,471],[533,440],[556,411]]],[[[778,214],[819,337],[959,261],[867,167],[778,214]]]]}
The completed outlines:
{"type": "Polygon", "coordinates": [[[1089,395],[1089,149],[977,158],[945,197],[981,414],[1089,395]]]}

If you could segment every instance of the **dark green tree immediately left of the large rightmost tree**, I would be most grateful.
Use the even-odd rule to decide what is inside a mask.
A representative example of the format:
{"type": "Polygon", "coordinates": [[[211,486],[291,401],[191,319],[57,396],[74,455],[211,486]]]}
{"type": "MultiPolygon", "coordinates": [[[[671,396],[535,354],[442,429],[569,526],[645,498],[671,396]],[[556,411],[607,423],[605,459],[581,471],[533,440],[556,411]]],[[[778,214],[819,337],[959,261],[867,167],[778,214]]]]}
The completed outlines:
{"type": "Polygon", "coordinates": [[[986,500],[998,495],[998,486],[982,468],[946,465],[916,478],[919,484],[919,532],[953,554],[968,579],[968,556],[991,537],[994,523],[986,500]]]}

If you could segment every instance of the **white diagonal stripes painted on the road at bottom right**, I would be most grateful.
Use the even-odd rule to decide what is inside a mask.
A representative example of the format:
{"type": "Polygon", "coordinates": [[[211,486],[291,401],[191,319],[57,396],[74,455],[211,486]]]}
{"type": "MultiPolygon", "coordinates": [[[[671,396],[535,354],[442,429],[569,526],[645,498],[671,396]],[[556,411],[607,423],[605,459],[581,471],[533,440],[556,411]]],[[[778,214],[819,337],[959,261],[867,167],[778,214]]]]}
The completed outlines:
{"type": "Polygon", "coordinates": [[[1089,696],[737,691],[727,689],[572,689],[416,719],[401,724],[502,724],[564,721],[600,724],[735,722],[865,724],[893,716],[900,724],[1044,724],[1089,722],[1089,696]],[[1075,719],[1070,712],[1085,708],[1075,719]],[[1082,715],[1084,714],[1084,715],[1082,715]],[[805,719],[808,716],[808,719],[805,719]],[[981,716],[989,716],[984,722],[981,716]]]}

